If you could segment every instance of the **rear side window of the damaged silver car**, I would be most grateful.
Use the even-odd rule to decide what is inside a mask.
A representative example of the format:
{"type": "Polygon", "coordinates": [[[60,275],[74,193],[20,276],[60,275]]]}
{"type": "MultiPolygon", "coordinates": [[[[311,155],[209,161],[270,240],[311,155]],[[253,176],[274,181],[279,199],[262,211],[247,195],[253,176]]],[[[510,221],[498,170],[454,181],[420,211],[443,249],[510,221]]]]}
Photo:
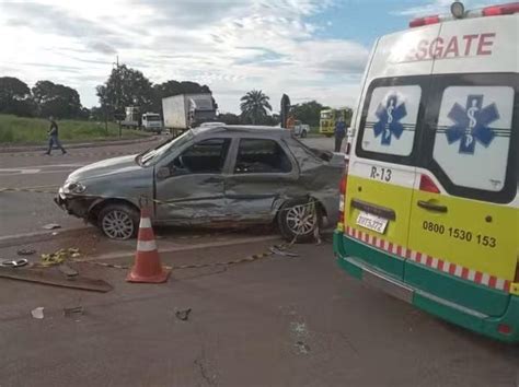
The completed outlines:
{"type": "Polygon", "coordinates": [[[241,139],[238,149],[235,174],[288,173],[290,159],[274,140],[241,139]]]}

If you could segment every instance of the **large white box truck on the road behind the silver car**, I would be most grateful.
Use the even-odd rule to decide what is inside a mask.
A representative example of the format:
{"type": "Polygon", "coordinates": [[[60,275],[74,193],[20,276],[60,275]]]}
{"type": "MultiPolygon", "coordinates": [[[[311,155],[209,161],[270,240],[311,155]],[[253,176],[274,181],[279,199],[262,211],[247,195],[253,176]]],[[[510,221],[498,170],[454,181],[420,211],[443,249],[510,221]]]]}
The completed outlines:
{"type": "Polygon", "coordinates": [[[210,93],[180,94],[162,98],[164,128],[174,136],[201,122],[216,118],[216,106],[210,93]]]}

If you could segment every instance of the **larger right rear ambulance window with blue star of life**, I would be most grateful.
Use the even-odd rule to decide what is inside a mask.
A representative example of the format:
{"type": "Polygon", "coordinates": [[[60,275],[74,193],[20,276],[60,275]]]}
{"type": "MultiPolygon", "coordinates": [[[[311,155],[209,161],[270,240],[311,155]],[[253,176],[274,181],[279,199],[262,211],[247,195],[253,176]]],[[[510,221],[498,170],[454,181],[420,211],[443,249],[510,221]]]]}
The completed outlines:
{"type": "Polygon", "coordinates": [[[454,186],[504,189],[514,93],[509,86],[445,89],[432,157],[454,186]]]}

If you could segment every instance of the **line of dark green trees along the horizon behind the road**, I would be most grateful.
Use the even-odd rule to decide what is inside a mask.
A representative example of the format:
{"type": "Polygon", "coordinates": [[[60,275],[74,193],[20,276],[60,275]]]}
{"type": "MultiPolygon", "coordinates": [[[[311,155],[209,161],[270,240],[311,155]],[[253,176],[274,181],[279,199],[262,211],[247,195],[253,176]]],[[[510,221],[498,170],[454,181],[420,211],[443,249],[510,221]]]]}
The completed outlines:
{"type": "MultiPolygon", "coordinates": [[[[118,120],[125,107],[137,106],[140,112],[162,113],[162,98],[193,93],[211,93],[208,85],[191,81],[170,80],[153,84],[145,74],[126,64],[112,69],[107,80],[96,86],[100,106],[88,109],[81,105],[78,91],[51,81],[37,81],[31,89],[13,77],[0,78],[0,114],[23,117],[48,117],[118,120]]],[[[218,107],[216,101],[215,106],[218,107]]],[[[321,109],[315,101],[292,106],[291,114],[310,126],[319,126],[321,109]]],[[[252,90],[240,99],[240,115],[221,113],[218,120],[229,125],[268,125],[280,122],[273,113],[270,98],[261,90],[252,90]]]]}

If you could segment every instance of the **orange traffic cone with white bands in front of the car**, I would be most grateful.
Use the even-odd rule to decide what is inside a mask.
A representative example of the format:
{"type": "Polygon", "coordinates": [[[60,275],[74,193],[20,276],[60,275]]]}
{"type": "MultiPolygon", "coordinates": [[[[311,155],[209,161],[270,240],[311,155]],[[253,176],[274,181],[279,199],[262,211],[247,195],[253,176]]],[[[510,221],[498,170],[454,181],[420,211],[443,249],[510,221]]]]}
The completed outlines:
{"type": "Polygon", "coordinates": [[[135,265],[126,277],[126,281],[161,283],[165,282],[169,275],[170,271],[165,270],[160,262],[155,236],[151,227],[150,211],[148,208],[142,208],[140,210],[135,265]]]}

